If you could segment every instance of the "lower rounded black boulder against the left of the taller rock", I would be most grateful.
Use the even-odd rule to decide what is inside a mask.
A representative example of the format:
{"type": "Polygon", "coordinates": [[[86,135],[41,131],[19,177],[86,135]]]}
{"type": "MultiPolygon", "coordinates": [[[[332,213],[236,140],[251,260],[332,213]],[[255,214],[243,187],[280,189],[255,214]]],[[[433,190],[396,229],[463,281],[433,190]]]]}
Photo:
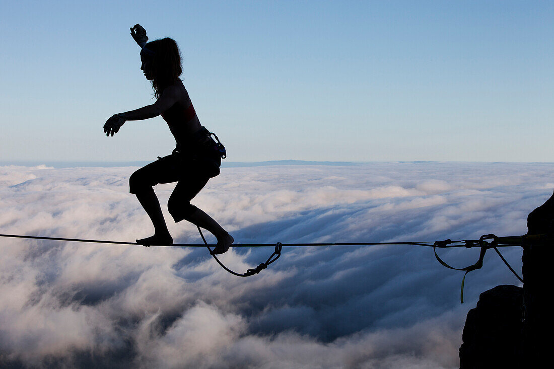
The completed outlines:
{"type": "Polygon", "coordinates": [[[479,295],[468,312],[460,347],[460,369],[524,368],[521,316],[523,289],[496,286],[479,295]]]}

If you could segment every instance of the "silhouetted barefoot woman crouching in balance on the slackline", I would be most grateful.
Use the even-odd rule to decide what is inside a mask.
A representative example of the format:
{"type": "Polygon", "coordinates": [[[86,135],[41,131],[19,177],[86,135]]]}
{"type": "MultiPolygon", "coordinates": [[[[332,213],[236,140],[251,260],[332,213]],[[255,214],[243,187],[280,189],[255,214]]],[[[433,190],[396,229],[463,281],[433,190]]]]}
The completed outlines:
{"type": "MultiPolygon", "coordinates": [[[[129,179],[130,192],[139,199],[150,217],[155,233],[151,237],[137,239],[143,245],[172,244],[160,202],[153,191],[158,183],[177,182],[167,208],[175,220],[187,220],[209,230],[217,238],[213,253],[221,254],[229,249],[233,237],[201,209],[190,201],[206,186],[209,178],[219,174],[224,148],[202,127],[187,90],[179,79],[182,73],[181,54],[177,43],[163,38],[146,43],[146,30],[139,24],[131,28],[131,35],[142,48],[141,70],[152,83],[156,102],[140,109],[116,114],[106,121],[104,132],[113,136],[126,121],[143,120],[161,115],[175,137],[177,147],[165,156],[140,168],[129,179]]],[[[217,139],[217,137],[216,137],[217,139]]]]}

